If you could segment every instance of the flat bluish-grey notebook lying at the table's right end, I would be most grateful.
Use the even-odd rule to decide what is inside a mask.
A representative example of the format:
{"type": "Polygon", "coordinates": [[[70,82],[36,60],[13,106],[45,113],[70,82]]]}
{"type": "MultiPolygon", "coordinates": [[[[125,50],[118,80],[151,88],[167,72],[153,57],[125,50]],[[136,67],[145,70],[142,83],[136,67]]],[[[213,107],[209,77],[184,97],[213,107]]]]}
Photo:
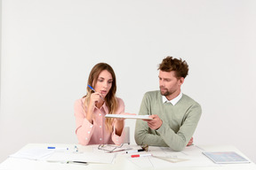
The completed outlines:
{"type": "Polygon", "coordinates": [[[235,151],[203,152],[204,155],[216,164],[250,163],[249,160],[238,155],[235,151]]]}

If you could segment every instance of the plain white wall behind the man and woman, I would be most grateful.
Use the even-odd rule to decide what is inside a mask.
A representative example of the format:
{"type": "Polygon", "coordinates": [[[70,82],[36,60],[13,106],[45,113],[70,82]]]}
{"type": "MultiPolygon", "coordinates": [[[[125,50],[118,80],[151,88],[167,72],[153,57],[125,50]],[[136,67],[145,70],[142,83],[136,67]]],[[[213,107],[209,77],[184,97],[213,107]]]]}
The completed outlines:
{"type": "MultiPolygon", "coordinates": [[[[196,144],[234,144],[256,162],[256,1],[3,0],[0,162],[26,143],[77,143],[73,104],[98,62],[138,113],[168,55],[190,67],[202,105],[196,144]]],[[[132,130],[134,120],[127,120],[132,130]]]]}

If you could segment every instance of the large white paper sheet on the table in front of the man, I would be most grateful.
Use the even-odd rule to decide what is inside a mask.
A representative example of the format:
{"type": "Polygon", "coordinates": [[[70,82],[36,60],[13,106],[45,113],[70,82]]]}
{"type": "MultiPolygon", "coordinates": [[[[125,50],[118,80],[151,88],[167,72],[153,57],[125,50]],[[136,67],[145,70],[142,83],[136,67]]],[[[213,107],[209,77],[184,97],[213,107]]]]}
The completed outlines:
{"type": "Polygon", "coordinates": [[[196,145],[189,146],[180,152],[172,151],[168,147],[149,146],[148,153],[152,156],[131,158],[127,155],[127,158],[140,168],[156,168],[156,165],[157,168],[218,166],[206,158],[196,145]]]}

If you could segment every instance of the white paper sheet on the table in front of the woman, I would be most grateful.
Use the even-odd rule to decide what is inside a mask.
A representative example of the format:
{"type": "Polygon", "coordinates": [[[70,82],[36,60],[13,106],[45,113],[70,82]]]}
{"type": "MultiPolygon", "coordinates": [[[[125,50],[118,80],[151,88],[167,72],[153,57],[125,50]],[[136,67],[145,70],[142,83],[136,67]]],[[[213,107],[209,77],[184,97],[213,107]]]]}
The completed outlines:
{"type": "Polygon", "coordinates": [[[114,162],[116,154],[113,153],[99,153],[99,152],[54,152],[52,156],[46,160],[49,162],[91,162],[91,163],[108,163],[114,162]]]}

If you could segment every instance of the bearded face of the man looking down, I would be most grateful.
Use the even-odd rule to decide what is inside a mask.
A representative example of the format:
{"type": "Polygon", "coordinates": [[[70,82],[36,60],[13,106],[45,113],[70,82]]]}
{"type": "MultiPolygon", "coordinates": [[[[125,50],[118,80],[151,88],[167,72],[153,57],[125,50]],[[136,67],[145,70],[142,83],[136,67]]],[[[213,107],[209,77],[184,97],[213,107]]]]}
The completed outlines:
{"type": "Polygon", "coordinates": [[[177,79],[174,71],[164,72],[161,70],[159,71],[158,77],[161,95],[167,97],[175,94],[175,92],[178,93],[178,95],[180,94],[180,86],[184,81],[183,77],[177,79]]]}

